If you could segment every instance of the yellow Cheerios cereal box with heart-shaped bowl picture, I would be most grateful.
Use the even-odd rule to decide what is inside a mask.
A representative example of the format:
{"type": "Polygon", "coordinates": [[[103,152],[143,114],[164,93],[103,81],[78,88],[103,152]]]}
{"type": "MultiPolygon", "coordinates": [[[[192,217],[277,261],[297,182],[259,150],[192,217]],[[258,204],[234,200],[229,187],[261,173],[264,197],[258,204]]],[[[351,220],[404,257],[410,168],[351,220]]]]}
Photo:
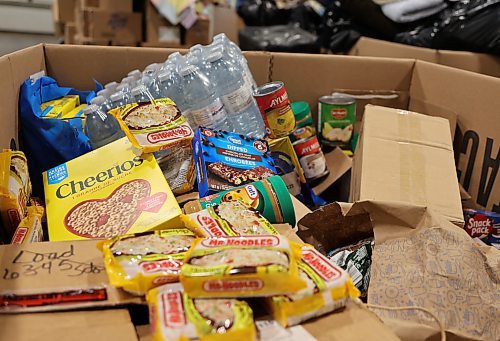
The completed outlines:
{"type": "Polygon", "coordinates": [[[111,238],[181,226],[152,154],[122,138],[43,173],[49,240],[111,238]]]}

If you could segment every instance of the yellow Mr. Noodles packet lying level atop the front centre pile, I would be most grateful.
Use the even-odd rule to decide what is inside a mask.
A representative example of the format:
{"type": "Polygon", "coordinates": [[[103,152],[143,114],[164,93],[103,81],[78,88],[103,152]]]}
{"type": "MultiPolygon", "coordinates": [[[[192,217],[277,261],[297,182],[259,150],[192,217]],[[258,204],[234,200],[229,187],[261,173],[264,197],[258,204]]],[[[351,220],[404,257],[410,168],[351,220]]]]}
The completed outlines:
{"type": "Polygon", "coordinates": [[[283,236],[197,239],[181,268],[181,283],[195,298],[265,297],[297,292],[300,246],[283,236]]]}

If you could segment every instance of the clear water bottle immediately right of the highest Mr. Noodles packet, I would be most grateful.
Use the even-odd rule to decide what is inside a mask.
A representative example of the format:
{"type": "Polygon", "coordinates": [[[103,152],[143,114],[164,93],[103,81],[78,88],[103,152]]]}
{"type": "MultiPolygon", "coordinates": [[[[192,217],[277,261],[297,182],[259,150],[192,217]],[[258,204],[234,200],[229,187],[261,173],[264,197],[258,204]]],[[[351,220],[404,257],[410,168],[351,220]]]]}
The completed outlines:
{"type": "Polygon", "coordinates": [[[193,128],[203,126],[212,129],[231,130],[222,101],[215,88],[198,67],[184,64],[180,69],[182,91],[189,103],[193,128]]]}

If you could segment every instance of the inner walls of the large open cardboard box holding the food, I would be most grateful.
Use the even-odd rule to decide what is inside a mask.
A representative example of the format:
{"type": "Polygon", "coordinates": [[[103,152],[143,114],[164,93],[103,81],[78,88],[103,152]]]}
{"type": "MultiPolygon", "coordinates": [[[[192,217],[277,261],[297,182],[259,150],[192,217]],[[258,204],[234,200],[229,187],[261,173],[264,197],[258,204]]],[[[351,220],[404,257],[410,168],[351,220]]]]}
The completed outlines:
{"type": "MultiPolygon", "coordinates": [[[[18,89],[31,74],[43,70],[63,86],[91,89],[93,78],[103,84],[117,81],[174,51],[38,45],[0,57],[0,147],[9,147],[11,139],[18,142],[18,89]]],[[[409,96],[405,109],[432,116],[455,114],[459,181],[478,208],[500,207],[500,79],[410,59],[267,52],[245,56],[258,84],[283,81],[290,99],[307,101],[314,118],[318,98],[333,89],[401,91],[409,96]]]]}

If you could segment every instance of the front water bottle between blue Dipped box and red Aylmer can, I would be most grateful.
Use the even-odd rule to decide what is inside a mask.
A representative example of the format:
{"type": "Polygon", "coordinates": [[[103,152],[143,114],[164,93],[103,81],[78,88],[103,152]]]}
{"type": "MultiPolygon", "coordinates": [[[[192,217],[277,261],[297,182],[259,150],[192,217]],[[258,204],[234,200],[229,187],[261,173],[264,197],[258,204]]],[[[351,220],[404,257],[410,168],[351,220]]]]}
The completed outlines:
{"type": "Polygon", "coordinates": [[[224,59],[222,49],[214,49],[207,56],[207,61],[211,64],[210,75],[226,109],[232,130],[238,134],[264,137],[264,122],[242,70],[224,59]]]}

